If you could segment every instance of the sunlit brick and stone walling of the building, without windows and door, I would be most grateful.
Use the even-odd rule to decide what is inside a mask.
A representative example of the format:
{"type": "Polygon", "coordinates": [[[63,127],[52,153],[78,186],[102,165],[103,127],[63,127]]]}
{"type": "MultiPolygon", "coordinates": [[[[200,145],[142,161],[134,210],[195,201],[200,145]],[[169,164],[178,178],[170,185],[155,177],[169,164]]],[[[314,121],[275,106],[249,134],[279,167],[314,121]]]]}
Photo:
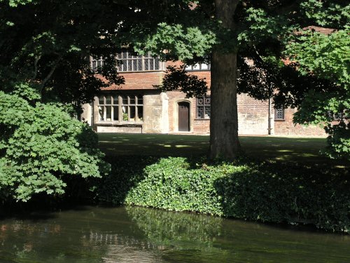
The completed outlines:
{"type": "MultiPolygon", "coordinates": [[[[166,67],[180,66],[182,62],[166,62],[166,67]]],[[[153,72],[122,72],[125,84],[110,86],[104,90],[144,90],[145,95],[149,92],[158,95],[144,98],[144,133],[179,133],[179,102],[190,103],[190,133],[207,134],[210,131],[209,119],[196,119],[197,105],[195,98],[186,98],[180,90],[168,91],[160,94],[153,85],[161,85],[165,71],[153,72]],[[153,91],[151,91],[153,90],[153,91]]],[[[211,84],[210,71],[191,71],[189,74],[196,75],[211,84]]],[[[101,76],[100,76],[101,77],[101,76]]],[[[102,78],[102,77],[101,77],[102,78]]],[[[102,78],[103,79],[103,78],[102,78]]],[[[210,90],[208,90],[210,95],[210,90]]],[[[238,95],[238,120],[239,135],[267,135],[268,134],[268,109],[267,101],[255,100],[248,95],[238,95]]],[[[325,135],[323,128],[316,126],[300,126],[293,123],[295,109],[285,110],[283,121],[274,121],[274,109],[272,108],[272,134],[275,135],[325,135]]],[[[88,119],[88,110],[84,116],[88,119]],[[85,116],[86,115],[86,116],[85,116]]],[[[85,119],[86,119],[85,118],[85,119]]],[[[139,128],[107,128],[100,127],[98,131],[138,132],[139,128]]]]}

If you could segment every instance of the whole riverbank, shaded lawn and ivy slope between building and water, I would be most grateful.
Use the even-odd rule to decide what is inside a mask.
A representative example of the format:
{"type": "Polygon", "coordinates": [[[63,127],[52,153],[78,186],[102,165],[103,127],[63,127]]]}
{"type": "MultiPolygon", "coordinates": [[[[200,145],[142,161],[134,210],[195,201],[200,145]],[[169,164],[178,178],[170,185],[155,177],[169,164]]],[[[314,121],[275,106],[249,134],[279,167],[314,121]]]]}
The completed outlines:
{"type": "Polygon", "coordinates": [[[349,233],[349,161],[321,156],[322,138],[243,137],[250,159],[228,163],[205,158],[207,136],[99,137],[111,163],[108,176],[64,175],[64,195],[8,201],[7,211],[25,215],[66,203],[125,204],[349,233]]]}

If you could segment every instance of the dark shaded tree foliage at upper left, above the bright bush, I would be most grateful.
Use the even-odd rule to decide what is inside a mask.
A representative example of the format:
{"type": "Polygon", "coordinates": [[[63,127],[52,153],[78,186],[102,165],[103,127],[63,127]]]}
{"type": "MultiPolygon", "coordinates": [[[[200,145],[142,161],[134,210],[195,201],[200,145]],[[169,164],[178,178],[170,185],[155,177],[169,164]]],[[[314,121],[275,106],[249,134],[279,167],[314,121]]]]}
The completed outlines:
{"type": "Polygon", "coordinates": [[[105,13],[105,8],[99,1],[1,1],[0,19],[7,21],[0,25],[1,90],[31,81],[41,86],[43,102],[73,104],[78,112],[100,88],[123,83],[111,58],[118,47],[102,37],[106,17],[86,23],[80,16],[97,19],[96,13],[105,13]],[[102,56],[103,67],[92,71],[89,55],[102,56]]]}

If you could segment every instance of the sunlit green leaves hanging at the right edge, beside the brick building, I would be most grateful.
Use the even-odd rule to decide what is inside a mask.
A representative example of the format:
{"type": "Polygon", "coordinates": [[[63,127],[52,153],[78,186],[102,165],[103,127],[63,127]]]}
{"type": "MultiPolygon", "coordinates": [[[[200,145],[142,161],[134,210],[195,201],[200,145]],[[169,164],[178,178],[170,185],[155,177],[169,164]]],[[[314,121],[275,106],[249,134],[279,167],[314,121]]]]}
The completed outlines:
{"type": "Polygon", "coordinates": [[[327,154],[350,159],[349,27],[328,35],[303,32],[287,46],[286,53],[295,60],[300,74],[334,83],[332,90],[311,89],[305,93],[294,120],[325,126],[330,135],[327,154]]]}

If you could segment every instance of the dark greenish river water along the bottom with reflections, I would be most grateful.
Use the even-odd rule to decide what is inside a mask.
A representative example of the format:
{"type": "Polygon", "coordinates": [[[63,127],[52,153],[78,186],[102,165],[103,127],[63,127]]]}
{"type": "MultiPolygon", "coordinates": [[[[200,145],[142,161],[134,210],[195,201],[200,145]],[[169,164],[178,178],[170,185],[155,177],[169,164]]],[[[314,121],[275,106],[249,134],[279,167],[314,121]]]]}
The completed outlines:
{"type": "Polygon", "coordinates": [[[0,262],[350,262],[350,236],[84,206],[0,220],[0,262]]]}

